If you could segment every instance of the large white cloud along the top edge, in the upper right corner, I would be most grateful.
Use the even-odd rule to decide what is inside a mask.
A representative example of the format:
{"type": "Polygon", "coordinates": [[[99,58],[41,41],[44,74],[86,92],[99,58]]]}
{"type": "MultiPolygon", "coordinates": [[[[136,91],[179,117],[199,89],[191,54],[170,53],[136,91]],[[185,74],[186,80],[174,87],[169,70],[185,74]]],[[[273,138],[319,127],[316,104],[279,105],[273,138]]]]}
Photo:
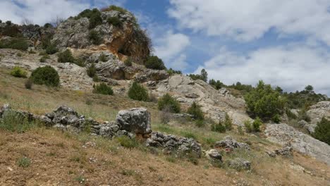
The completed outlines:
{"type": "Polygon", "coordinates": [[[181,27],[239,41],[258,39],[271,28],[303,34],[330,45],[329,0],[170,0],[169,16],[181,27]]]}

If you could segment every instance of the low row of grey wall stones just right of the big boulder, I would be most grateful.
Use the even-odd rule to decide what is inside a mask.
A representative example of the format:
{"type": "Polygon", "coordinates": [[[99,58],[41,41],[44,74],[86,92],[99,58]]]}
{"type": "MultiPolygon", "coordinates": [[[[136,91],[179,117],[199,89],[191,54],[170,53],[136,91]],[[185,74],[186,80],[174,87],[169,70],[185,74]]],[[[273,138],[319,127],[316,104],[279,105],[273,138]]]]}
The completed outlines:
{"type": "Polygon", "coordinates": [[[166,135],[161,132],[152,132],[150,138],[146,141],[147,147],[161,147],[165,153],[187,153],[193,152],[200,157],[202,148],[192,138],[176,137],[175,135],[166,135]]]}

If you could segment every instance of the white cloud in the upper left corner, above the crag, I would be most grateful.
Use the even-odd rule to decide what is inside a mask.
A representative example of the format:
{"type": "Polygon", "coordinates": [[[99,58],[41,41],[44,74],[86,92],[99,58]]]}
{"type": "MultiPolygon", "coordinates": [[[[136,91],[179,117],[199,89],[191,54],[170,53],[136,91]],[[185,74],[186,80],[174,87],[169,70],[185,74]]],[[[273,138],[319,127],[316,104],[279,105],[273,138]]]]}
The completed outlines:
{"type": "Polygon", "coordinates": [[[35,24],[49,23],[56,17],[75,16],[85,8],[123,4],[124,0],[1,0],[0,19],[21,23],[24,19],[35,24]]]}

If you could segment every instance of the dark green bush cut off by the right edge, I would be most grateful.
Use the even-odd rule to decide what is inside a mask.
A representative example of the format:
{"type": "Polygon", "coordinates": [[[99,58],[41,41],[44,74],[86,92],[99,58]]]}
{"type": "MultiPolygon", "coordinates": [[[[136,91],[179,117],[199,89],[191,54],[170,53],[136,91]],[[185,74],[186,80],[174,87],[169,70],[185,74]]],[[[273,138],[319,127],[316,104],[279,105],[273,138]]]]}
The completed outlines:
{"type": "Polygon", "coordinates": [[[317,140],[325,142],[330,145],[330,121],[326,118],[317,123],[314,134],[312,134],[317,140]]]}

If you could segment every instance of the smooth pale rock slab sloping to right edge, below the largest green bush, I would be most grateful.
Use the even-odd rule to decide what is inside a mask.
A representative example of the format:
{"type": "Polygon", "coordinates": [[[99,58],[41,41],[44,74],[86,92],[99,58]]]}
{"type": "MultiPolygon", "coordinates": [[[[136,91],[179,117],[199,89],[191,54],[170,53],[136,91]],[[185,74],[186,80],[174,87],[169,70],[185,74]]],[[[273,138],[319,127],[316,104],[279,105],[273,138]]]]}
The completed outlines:
{"type": "Polygon", "coordinates": [[[307,154],[330,165],[330,146],[309,135],[298,132],[291,126],[286,124],[268,124],[265,135],[271,142],[282,145],[290,142],[295,151],[307,154]]]}

